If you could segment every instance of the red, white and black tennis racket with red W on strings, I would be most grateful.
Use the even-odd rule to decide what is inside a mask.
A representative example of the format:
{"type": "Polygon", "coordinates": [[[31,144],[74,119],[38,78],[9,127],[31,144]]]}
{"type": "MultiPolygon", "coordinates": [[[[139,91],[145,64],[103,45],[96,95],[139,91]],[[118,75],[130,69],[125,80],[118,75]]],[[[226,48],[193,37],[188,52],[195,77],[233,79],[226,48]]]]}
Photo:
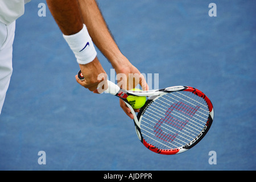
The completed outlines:
{"type": "MultiPolygon", "coordinates": [[[[84,80],[81,71],[80,80],[84,80]]],[[[190,86],[171,86],[149,91],[120,89],[111,81],[105,93],[121,98],[134,115],[139,140],[158,154],[180,154],[207,134],[213,122],[213,105],[203,92],[190,86]],[[147,96],[146,103],[135,114],[128,96],[147,96]]]]}

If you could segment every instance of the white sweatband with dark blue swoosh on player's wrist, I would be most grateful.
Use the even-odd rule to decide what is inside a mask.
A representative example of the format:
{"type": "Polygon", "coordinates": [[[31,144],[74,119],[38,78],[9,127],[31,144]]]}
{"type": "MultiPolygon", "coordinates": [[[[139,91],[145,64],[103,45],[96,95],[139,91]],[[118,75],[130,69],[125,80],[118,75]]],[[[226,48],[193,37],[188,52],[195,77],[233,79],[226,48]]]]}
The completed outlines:
{"type": "Polygon", "coordinates": [[[77,63],[87,64],[95,59],[97,56],[96,49],[93,45],[92,38],[84,24],[82,30],[74,35],[64,35],[69,47],[76,56],[77,63]]]}

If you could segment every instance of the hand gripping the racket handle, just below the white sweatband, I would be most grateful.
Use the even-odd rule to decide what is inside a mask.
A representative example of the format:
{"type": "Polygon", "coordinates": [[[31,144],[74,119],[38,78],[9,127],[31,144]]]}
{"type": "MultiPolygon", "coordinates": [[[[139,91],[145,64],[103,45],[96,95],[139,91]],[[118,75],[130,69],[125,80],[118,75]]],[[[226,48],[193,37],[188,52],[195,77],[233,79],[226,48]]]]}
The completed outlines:
{"type": "Polygon", "coordinates": [[[94,93],[98,93],[97,92],[97,86],[98,84],[103,81],[106,80],[106,77],[104,77],[104,75],[106,76],[106,72],[104,71],[104,69],[102,68],[100,61],[98,61],[97,57],[90,63],[88,64],[80,64],[80,69],[82,72],[82,75],[84,75],[84,80],[79,80],[79,78],[76,75],[76,81],[84,86],[86,89],[89,89],[90,91],[94,92],[94,93]],[[104,73],[104,74],[102,74],[104,73]],[[98,80],[98,76],[99,75],[103,75],[100,80],[98,80]]]}

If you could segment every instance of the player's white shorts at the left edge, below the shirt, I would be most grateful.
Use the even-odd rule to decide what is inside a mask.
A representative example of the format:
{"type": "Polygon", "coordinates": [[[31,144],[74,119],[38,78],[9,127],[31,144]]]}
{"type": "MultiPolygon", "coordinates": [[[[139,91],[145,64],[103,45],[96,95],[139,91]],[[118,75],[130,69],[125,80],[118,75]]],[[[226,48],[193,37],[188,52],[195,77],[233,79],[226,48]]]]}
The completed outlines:
{"type": "Polygon", "coordinates": [[[13,73],[14,35],[15,22],[8,26],[0,22],[0,114],[13,73]]]}

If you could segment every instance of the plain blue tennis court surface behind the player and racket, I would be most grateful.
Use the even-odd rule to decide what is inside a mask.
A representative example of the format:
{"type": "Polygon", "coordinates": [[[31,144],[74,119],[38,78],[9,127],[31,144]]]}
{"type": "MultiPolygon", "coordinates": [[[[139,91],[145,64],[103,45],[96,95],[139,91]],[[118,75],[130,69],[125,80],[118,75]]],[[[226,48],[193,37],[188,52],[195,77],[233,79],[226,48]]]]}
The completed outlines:
{"type": "Polygon", "coordinates": [[[77,84],[75,56],[48,8],[38,15],[39,3],[46,1],[32,0],[16,21],[14,72],[0,116],[1,170],[256,169],[254,0],[98,0],[139,71],[158,73],[159,88],[193,86],[212,100],[208,134],[179,155],[147,150],[118,98],[77,84]],[[209,16],[210,3],[217,16],[209,16]],[[46,164],[38,163],[39,151],[46,164]]]}

